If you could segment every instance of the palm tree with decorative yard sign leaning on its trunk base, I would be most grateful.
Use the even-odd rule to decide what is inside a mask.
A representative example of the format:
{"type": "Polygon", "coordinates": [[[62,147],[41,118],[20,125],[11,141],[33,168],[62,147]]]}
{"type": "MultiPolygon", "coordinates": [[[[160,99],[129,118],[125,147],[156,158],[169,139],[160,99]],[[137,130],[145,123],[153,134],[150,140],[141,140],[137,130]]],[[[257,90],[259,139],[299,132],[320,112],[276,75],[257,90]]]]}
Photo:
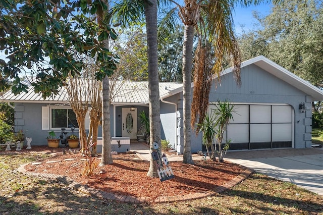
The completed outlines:
{"type": "MultiPolygon", "coordinates": [[[[158,58],[157,58],[157,0],[130,1],[124,0],[116,4],[113,14],[122,24],[140,22],[144,12],[146,19],[147,45],[148,45],[148,91],[149,91],[149,122],[150,122],[150,148],[153,142],[160,142],[160,104],[158,87],[158,58]]],[[[152,157],[147,173],[148,177],[157,177],[156,166],[152,157]]]]}

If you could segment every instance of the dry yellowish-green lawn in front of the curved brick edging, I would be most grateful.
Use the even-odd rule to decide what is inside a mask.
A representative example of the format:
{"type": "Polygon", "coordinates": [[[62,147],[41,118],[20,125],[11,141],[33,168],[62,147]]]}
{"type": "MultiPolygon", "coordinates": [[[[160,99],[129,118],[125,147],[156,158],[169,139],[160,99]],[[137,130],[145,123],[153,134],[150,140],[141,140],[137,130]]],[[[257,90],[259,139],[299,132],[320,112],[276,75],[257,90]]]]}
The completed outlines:
{"type": "MultiPolygon", "coordinates": [[[[202,199],[129,204],[88,197],[65,184],[17,172],[37,155],[0,154],[0,214],[322,214],[323,196],[254,174],[232,189],[202,199]],[[21,186],[22,185],[22,186],[21,186]]],[[[161,183],[160,186],[163,186],[161,183]]]]}

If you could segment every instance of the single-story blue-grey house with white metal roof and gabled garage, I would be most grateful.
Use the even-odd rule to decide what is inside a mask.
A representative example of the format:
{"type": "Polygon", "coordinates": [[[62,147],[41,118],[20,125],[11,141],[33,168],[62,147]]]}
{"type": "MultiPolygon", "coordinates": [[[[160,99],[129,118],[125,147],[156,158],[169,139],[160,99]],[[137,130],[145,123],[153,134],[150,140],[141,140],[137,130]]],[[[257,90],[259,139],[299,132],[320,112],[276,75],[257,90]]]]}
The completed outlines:
{"type": "MultiPolygon", "coordinates": [[[[323,100],[322,90],[263,56],[242,63],[240,87],[232,71],[223,72],[221,84],[214,82],[209,95],[209,109],[218,99],[235,104],[234,120],[226,130],[230,150],[311,147],[311,102],[323,100]]],[[[182,91],[182,83],[159,83],[161,139],[169,140],[181,153],[182,91]]],[[[126,81],[116,94],[110,107],[111,135],[136,139],[141,127],[138,115],[148,113],[148,82],[126,81]]],[[[64,89],[43,99],[30,87],[19,95],[7,92],[1,100],[15,103],[15,130],[28,130],[32,145],[45,145],[48,131],[59,136],[62,127],[68,132],[77,127],[64,89]]],[[[192,152],[203,149],[201,134],[192,132],[191,147],[192,152]]]]}

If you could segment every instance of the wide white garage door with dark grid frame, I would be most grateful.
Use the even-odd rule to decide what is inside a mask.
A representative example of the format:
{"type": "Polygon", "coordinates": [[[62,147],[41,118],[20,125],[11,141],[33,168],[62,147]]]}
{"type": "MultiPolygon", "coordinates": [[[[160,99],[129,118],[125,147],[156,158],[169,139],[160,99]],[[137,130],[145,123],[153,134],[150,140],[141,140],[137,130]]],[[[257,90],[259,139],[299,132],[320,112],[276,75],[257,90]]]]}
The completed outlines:
{"type": "Polygon", "coordinates": [[[230,150],[292,147],[290,105],[235,104],[235,111],[234,121],[228,124],[225,133],[225,139],[231,140],[230,150]]]}

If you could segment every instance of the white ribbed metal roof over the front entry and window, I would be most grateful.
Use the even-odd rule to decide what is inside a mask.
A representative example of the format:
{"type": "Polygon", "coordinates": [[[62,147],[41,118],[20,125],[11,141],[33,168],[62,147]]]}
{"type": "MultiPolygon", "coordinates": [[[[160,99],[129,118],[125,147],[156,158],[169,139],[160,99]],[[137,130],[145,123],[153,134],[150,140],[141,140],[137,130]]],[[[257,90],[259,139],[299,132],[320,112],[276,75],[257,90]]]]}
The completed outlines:
{"type": "MultiPolygon", "coordinates": [[[[34,87],[28,83],[28,92],[14,95],[11,91],[0,97],[5,102],[37,102],[37,103],[67,103],[67,90],[62,87],[57,95],[43,98],[41,94],[34,92],[34,87]]],[[[182,87],[182,83],[159,82],[159,95],[163,96],[170,91],[182,87]]],[[[141,103],[149,101],[147,81],[116,81],[115,93],[112,103],[141,103]]]]}

